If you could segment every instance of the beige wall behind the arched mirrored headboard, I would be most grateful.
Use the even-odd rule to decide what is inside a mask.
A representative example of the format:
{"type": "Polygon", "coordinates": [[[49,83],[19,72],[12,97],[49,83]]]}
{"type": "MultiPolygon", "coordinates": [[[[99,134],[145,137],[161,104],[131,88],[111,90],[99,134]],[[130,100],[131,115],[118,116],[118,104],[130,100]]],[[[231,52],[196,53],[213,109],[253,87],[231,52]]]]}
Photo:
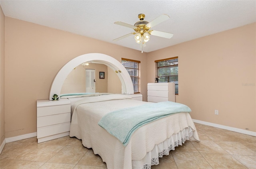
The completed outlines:
{"type": "Polygon", "coordinates": [[[79,55],[104,53],[120,62],[122,57],[140,60],[142,84],[147,81],[146,53],[140,51],[9,17],[5,37],[6,138],[36,132],[36,100],[48,99],[54,76],[79,55]]]}

